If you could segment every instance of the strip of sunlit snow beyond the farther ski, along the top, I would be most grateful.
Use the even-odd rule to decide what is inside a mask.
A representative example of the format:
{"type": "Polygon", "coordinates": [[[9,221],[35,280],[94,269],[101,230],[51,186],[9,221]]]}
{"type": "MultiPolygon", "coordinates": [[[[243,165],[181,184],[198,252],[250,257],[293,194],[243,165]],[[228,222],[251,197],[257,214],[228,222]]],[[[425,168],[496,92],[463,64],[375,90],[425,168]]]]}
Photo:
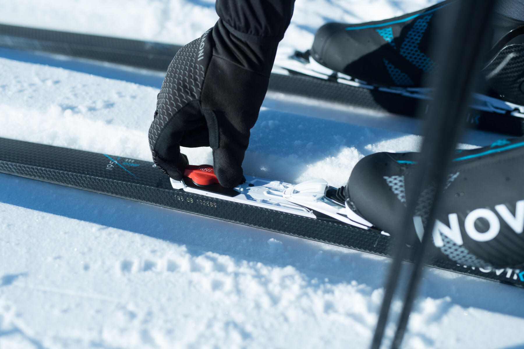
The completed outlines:
{"type": "MultiPolygon", "coordinates": [[[[326,21],[380,20],[436,2],[298,0],[283,44],[308,49],[314,31],[326,21]]],[[[179,44],[200,37],[218,19],[212,0],[0,0],[0,8],[3,24],[179,44]]]]}

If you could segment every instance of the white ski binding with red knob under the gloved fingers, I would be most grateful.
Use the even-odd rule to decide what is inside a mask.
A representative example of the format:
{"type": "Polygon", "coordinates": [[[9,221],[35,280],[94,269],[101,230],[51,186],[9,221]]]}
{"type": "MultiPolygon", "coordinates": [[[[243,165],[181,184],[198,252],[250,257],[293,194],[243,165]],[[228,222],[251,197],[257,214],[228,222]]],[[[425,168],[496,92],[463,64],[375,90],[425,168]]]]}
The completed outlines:
{"type": "Polygon", "coordinates": [[[188,165],[184,178],[170,178],[174,189],[205,195],[217,199],[238,202],[261,208],[291,213],[309,218],[336,220],[352,226],[369,229],[373,226],[356,215],[347,204],[330,198],[328,193],[336,188],[328,186],[324,179],[311,179],[297,185],[271,181],[270,179],[244,176],[245,181],[234,188],[224,188],[211,165],[188,165]]]}

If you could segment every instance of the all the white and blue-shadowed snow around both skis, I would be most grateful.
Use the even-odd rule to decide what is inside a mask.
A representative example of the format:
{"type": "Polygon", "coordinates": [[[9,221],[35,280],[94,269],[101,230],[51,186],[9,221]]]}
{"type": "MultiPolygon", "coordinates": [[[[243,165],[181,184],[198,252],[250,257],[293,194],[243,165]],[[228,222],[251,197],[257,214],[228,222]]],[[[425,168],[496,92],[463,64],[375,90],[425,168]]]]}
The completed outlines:
{"type": "MultiPolygon", "coordinates": [[[[308,48],[325,21],[433,3],[297,1],[279,54],[308,48]]],[[[0,8],[8,24],[175,43],[216,20],[205,0],[0,0],[0,8]]],[[[0,137],[150,160],[162,74],[0,49],[0,76],[0,137]]],[[[246,174],[339,186],[367,154],[420,146],[414,120],[303,102],[266,97],[246,174]]],[[[470,131],[462,147],[499,137],[470,131]]],[[[212,162],[209,149],[184,152],[212,162]]],[[[369,344],[387,258],[4,174],[0,186],[2,349],[369,344]]],[[[521,294],[430,269],[405,347],[524,347],[521,294]]],[[[394,315],[399,308],[397,300],[394,315]]]]}

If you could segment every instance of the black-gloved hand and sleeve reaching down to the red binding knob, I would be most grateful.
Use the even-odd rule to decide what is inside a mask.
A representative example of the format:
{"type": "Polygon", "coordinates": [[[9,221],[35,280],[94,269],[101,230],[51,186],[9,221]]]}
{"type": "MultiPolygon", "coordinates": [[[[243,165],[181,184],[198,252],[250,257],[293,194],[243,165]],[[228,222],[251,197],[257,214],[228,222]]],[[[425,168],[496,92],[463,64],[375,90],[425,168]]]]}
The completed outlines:
{"type": "MultiPolygon", "coordinates": [[[[221,3],[222,10],[225,8],[228,14],[236,10],[239,16],[237,7],[248,2],[221,3]],[[227,7],[235,3],[241,5],[227,7]]],[[[277,7],[281,10],[282,6],[277,7]]],[[[281,23],[282,15],[277,18],[278,36],[271,36],[274,32],[267,35],[268,28],[254,27],[253,21],[245,21],[248,28],[241,32],[219,19],[200,39],[177,52],[158,94],[155,119],[149,129],[153,160],[170,177],[180,181],[188,164],[180,145],[211,147],[220,184],[234,187],[241,182],[249,130],[258,118],[278,42],[289,24],[292,2],[288,7],[283,18],[287,24],[281,23]],[[264,36],[255,35],[257,31],[264,36]]]]}

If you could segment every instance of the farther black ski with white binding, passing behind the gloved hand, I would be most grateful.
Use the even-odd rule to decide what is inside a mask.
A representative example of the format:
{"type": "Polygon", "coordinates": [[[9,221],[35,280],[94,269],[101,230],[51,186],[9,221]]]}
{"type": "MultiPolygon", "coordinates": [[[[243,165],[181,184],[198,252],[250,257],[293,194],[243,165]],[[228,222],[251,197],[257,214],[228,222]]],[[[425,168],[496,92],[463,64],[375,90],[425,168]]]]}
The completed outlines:
{"type": "MultiPolygon", "coordinates": [[[[165,72],[181,46],[167,43],[86,35],[56,30],[0,25],[0,47],[43,51],[126,64],[165,72]]],[[[340,103],[353,107],[415,116],[429,111],[431,91],[380,87],[334,73],[303,53],[277,59],[269,91],[340,103]]],[[[468,127],[522,136],[524,107],[476,94],[463,116],[468,127]]]]}

